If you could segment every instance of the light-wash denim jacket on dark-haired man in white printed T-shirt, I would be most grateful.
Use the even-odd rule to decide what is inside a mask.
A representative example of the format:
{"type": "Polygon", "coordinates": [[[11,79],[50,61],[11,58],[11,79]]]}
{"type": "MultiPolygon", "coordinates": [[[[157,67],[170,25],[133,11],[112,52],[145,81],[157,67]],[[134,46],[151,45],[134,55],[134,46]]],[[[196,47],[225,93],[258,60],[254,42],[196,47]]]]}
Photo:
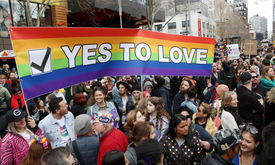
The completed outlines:
{"type": "MultiPolygon", "coordinates": [[[[71,112],[68,112],[64,115],[65,117],[65,126],[71,138],[71,141],[76,139],[76,135],[74,133],[74,117],[71,112]]],[[[50,139],[50,143],[54,148],[60,146],[60,125],[54,119],[53,114],[50,113],[43,120],[41,120],[38,124],[38,127],[44,131],[45,136],[50,139]]]]}

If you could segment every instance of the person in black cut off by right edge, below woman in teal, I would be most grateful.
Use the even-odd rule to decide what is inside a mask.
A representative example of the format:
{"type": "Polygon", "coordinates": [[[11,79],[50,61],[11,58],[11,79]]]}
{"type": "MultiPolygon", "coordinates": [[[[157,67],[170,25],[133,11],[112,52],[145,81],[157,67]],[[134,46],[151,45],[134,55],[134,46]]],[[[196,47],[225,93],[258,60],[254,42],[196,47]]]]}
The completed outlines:
{"type": "Polygon", "coordinates": [[[264,110],[264,125],[268,125],[275,120],[275,87],[271,88],[267,92],[265,99],[265,110],[264,110]]]}

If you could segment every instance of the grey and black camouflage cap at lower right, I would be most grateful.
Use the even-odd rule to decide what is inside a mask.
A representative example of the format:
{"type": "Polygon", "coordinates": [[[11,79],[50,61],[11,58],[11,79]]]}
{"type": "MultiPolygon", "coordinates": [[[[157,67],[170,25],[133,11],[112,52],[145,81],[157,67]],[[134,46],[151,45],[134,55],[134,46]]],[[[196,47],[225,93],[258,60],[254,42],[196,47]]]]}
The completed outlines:
{"type": "Polygon", "coordinates": [[[225,151],[230,147],[239,144],[242,138],[243,135],[238,129],[222,129],[217,131],[214,135],[213,143],[219,151],[225,151]]]}

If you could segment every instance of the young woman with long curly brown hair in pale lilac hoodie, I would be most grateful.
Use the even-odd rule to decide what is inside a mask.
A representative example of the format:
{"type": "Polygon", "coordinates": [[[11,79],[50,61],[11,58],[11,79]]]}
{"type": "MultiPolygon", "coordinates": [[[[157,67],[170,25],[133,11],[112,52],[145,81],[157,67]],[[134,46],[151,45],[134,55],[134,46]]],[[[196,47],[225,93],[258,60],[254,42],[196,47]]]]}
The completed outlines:
{"type": "Polygon", "coordinates": [[[151,97],[147,102],[147,111],[145,115],[147,122],[153,122],[156,139],[160,141],[167,133],[169,120],[171,117],[166,112],[157,97],[151,97]]]}

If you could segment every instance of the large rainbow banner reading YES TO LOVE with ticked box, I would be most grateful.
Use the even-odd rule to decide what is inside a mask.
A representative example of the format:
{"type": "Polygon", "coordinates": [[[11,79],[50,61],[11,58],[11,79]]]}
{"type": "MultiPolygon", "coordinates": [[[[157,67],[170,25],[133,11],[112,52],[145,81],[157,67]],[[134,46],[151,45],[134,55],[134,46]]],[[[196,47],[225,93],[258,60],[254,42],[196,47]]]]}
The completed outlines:
{"type": "Polygon", "coordinates": [[[210,76],[214,38],[140,29],[10,27],[25,99],[103,76],[210,76]]]}

